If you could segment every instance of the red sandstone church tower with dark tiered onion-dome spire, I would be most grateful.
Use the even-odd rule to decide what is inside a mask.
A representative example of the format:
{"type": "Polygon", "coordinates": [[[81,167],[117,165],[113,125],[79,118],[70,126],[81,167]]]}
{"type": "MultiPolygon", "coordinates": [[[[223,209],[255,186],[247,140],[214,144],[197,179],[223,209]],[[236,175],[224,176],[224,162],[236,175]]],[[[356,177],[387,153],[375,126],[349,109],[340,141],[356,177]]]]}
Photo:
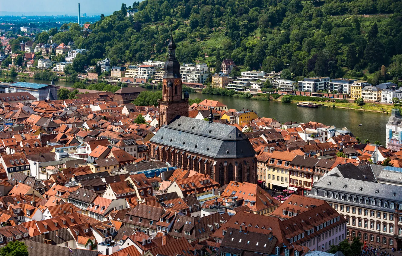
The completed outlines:
{"type": "Polygon", "coordinates": [[[180,63],[176,59],[176,44],[172,35],[164,69],[162,100],[158,100],[159,126],[170,124],[176,116],[189,116],[189,93],[185,92],[182,95],[180,63]]]}

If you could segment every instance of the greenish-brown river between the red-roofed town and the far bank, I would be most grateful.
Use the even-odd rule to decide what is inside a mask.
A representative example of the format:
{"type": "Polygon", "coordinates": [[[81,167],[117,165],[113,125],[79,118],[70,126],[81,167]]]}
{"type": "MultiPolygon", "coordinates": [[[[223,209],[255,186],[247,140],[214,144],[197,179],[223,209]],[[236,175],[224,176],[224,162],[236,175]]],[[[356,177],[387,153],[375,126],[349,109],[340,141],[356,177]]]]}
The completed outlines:
{"type": "MultiPolygon", "coordinates": [[[[14,81],[19,81],[19,79],[16,77],[13,77],[13,79],[14,81]]],[[[32,78],[24,79],[31,83],[50,83],[49,81],[45,80],[37,80],[32,78]]],[[[73,83],[55,81],[55,84],[71,87],[73,83]]],[[[190,98],[200,98],[201,100],[211,98],[213,100],[222,102],[223,104],[227,105],[228,108],[235,108],[237,110],[249,108],[249,110],[254,110],[258,116],[265,116],[269,118],[273,117],[281,123],[287,121],[314,121],[330,126],[333,125],[338,129],[346,127],[351,130],[355,136],[358,136],[362,142],[364,142],[365,139],[369,139],[372,143],[375,140],[379,140],[381,143],[384,143],[386,136],[385,125],[390,118],[390,115],[375,112],[345,110],[328,107],[301,108],[292,103],[250,100],[201,93],[190,93],[190,98]],[[359,126],[359,124],[363,125],[359,126]]]]}

